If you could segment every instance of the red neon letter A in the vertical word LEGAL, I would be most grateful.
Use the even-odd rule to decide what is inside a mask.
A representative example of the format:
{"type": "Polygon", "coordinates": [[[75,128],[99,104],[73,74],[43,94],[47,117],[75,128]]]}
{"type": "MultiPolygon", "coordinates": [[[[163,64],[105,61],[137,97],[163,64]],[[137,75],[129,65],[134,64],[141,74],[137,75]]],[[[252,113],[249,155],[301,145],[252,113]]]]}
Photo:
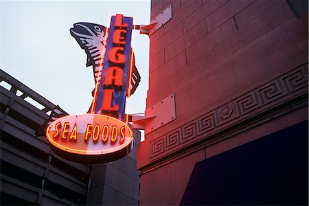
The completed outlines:
{"type": "Polygon", "coordinates": [[[108,67],[105,72],[104,77],[104,85],[115,85],[115,86],[122,86],[123,85],[123,77],[124,71],[120,67],[108,67]]]}

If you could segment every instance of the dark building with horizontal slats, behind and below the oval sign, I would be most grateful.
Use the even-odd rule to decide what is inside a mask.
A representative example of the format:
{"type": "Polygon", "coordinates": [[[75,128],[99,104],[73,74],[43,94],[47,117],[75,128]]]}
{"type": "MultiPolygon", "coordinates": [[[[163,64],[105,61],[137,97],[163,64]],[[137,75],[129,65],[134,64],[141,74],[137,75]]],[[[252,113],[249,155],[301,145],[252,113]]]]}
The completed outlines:
{"type": "Polygon", "coordinates": [[[44,135],[36,137],[56,105],[0,71],[1,205],[138,205],[138,130],[123,159],[95,165],[67,161],[44,135]]]}

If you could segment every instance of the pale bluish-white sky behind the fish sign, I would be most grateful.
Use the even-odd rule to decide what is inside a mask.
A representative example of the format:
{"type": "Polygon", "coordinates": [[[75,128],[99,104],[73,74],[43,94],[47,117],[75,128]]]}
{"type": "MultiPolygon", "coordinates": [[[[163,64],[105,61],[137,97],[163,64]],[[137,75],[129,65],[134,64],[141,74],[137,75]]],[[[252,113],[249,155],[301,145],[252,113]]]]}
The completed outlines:
{"type": "MultiPolygon", "coordinates": [[[[87,55],[71,36],[73,23],[109,27],[110,15],[150,22],[146,1],[3,1],[0,69],[69,114],[86,113],[95,84],[87,55]]],[[[141,82],[128,100],[126,113],[144,113],[148,90],[149,37],[133,31],[132,47],[141,82]]]]}

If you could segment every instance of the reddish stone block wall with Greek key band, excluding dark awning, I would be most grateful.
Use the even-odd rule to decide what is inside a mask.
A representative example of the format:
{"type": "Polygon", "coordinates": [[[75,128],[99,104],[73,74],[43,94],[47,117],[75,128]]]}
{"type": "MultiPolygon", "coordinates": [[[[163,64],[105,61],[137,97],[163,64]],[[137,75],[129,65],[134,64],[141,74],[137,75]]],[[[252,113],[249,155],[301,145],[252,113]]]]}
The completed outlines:
{"type": "Polygon", "coordinates": [[[308,93],[308,14],[297,18],[284,0],[153,0],[151,19],[168,5],[172,19],[150,36],[146,110],[175,93],[176,120],[139,146],[142,205],[179,204],[194,163],[207,158],[214,142],[233,148],[308,118],[301,102],[293,113],[282,108],[277,126],[259,116],[308,93]],[[297,92],[284,89],[290,87],[297,92]],[[281,122],[286,115],[293,119],[281,122]],[[256,133],[225,132],[239,125],[256,133]]]}

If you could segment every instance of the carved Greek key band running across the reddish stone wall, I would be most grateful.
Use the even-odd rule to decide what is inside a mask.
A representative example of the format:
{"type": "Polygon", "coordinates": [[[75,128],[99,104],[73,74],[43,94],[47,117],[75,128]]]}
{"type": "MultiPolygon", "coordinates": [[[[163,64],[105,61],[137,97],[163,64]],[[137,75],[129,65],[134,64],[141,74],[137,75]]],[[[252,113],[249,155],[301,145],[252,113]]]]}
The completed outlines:
{"type": "Polygon", "coordinates": [[[308,63],[151,141],[150,161],[166,157],[306,93],[308,95],[308,63]]]}

